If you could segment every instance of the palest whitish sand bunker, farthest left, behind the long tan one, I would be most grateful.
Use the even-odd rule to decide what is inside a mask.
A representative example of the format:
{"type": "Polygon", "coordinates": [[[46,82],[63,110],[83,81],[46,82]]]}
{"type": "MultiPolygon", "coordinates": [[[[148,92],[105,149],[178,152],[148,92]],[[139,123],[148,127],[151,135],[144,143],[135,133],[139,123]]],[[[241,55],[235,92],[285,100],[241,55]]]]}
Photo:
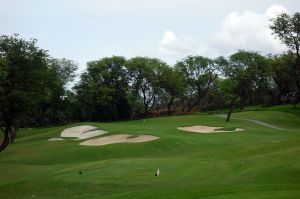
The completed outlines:
{"type": "Polygon", "coordinates": [[[78,140],[87,139],[91,137],[96,137],[107,133],[102,130],[95,130],[97,127],[90,125],[75,126],[67,128],[61,132],[61,137],[72,137],[77,138],[78,140]]]}

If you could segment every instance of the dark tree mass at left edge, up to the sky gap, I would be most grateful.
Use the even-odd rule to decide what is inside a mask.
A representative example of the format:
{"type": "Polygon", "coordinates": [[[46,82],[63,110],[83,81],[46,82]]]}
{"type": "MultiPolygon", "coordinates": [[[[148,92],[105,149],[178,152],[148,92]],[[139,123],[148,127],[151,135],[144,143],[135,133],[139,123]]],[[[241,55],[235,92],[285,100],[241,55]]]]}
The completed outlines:
{"type": "Polygon", "coordinates": [[[0,37],[0,150],[14,141],[18,127],[57,122],[47,114],[57,117],[51,107],[61,108],[65,84],[76,70],[72,61],[50,58],[36,42],[18,35],[0,37]]]}

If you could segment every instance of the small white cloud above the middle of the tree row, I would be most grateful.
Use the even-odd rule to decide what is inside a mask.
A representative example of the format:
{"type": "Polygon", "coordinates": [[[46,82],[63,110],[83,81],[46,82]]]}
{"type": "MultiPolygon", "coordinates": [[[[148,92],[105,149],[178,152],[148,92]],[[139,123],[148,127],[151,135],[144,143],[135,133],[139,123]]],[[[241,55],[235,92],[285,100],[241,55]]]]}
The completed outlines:
{"type": "Polygon", "coordinates": [[[178,38],[175,33],[168,30],[164,32],[163,38],[159,43],[159,52],[170,56],[186,56],[201,53],[206,50],[201,47],[192,36],[178,38]]]}

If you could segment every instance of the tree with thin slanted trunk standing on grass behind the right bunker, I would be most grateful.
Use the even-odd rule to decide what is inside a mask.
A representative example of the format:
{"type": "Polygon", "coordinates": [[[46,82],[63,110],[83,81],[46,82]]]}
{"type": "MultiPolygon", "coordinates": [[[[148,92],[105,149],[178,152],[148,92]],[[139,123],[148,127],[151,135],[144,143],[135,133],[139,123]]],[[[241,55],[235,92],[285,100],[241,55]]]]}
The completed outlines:
{"type": "Polygon", "coordinates": [[[234,108],[239,105],[241,109],[257,92],[266,88],[269,69],[265,57],[257,52],[240,50],[232,54],[227,61],[223,61],[224,76],[230,79],[233,88],[228,92],[231,104],[227,121],[234,108]]]}

